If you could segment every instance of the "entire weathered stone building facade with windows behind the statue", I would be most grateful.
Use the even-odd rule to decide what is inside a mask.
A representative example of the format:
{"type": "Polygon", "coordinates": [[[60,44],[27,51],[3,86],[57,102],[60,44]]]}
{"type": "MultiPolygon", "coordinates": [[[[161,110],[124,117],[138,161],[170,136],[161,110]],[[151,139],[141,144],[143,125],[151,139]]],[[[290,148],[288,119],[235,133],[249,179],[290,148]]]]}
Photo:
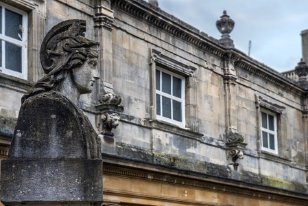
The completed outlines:
{"type": "Polygon", "coordinates": [[[21,96],[43,77],[43,37],[60,21],[84,19],[101,43],[101,81],[78,106],[102,137],[104,205],[307,205],[307,32],[302,63],[278,73],[234,47],[233,27],[217,40],[155,1],[0,7],[19,29],[0,32],[1,159],[21,96]]]}

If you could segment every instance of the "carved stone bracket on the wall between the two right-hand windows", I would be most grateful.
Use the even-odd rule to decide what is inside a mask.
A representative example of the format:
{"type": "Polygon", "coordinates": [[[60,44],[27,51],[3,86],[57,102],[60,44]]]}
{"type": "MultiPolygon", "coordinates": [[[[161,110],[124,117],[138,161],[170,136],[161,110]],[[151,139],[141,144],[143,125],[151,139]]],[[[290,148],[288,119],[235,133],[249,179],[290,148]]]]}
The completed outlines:
{"type": "Polygon", "coordinates": [[[232,131],[228,132],[226,139],[226,159],[228,164],[233,165],[235,170],[237,170],[237,166],[239,165],[239,163],[236,162],[237,159],[244,158],[246,146],[247,144],[244,143],[244,137],[242,135],[233,133],[232,131]]]}

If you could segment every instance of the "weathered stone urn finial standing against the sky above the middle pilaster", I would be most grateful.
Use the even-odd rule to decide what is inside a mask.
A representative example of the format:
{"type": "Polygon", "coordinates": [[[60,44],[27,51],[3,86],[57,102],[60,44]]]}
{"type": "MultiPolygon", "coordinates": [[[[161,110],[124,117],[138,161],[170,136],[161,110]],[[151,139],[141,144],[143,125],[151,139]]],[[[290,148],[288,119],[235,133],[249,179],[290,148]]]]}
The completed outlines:
{"type": "Polygon", "coordinates": [[[226,47],[234,47],[233,40],[230,39],[229,34],[232,32],[234,28],[235,22],[230,19],[230,16],[227,15],[226,10],[224,10],[224,14],[220,16],[220,20],[216,21],[216,27],[220,33],[222,33],[222,38],[220,42],[224,44],[226,47]]]}

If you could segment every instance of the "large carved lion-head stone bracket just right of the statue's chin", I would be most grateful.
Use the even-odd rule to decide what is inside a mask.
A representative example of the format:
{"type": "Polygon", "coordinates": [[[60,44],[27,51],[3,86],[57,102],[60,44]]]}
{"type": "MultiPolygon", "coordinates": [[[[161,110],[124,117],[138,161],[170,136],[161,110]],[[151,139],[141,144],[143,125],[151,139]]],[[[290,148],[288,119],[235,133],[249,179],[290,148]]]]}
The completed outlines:
{"type": "Polygon", "coordinates": [[[119,114],[123,113],[124,108],[121,106],[121,97],[115,93],[105,93],[99,98],[99,102],[96,106],[100,113],[100,124],[102,125],[100,129],[101,135],[107,135],[113,137],[111,132],[112,128],[117,128],[119,125],[119,114]]]}

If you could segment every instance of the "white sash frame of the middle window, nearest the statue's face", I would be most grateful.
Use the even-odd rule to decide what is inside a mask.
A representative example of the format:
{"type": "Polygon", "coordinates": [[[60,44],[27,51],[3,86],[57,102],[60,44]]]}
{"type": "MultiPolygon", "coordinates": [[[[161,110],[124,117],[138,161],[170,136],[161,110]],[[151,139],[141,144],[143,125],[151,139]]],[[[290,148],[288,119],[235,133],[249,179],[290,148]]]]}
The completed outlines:
{"type": "MultiPolygon", "coordinates": [[[[163,120],[165,122],[169,122],[171,124],[176,124],[176,125],[178,125],[180,127],[185,127],[185,78],[182,77],[182,76],[177,75],[176,73],[172,73],[172,72],[170,72],[170,71],[168,71],[166,69],[163,69],[161,67],[156,67],[156,70],[171,75],[171,95],[156,89],[156,94],[161,96],[161,100],[159,100],[161,102],[161,108],[160,108],[161,115],[156,114],[156,118],[159,119],[159,120],[163,120]],[[181,80],[181,98],[177,98],[174,95],[172,95],[172,90],[173,90],[172,89],[172,86],[173,86],[173,78],[172,77],[173,76],[176,77],[176,78],[179,78],[181,80]],[[179,122],[179,121],[173,119],[174,115],[173,115],[173,104],[172,103],[171,103],[171,119],[168,118],[168,117],[164,117],[163,116],[163,105],[162,105],[162,98],[163,98],[163,96],[166,97],[166,98],[169,98],[171,100],[176,100],[177,102],[180,102],[181,110],[182,110],[181,111],[181,113],[182,113],[182,122],[179,122]]],[[[160,82],[161,85],[160,85],[159,88],[162,90],[162,75],[160,77],[161,77],[161,80],[159,82],[160,82]]]]}

